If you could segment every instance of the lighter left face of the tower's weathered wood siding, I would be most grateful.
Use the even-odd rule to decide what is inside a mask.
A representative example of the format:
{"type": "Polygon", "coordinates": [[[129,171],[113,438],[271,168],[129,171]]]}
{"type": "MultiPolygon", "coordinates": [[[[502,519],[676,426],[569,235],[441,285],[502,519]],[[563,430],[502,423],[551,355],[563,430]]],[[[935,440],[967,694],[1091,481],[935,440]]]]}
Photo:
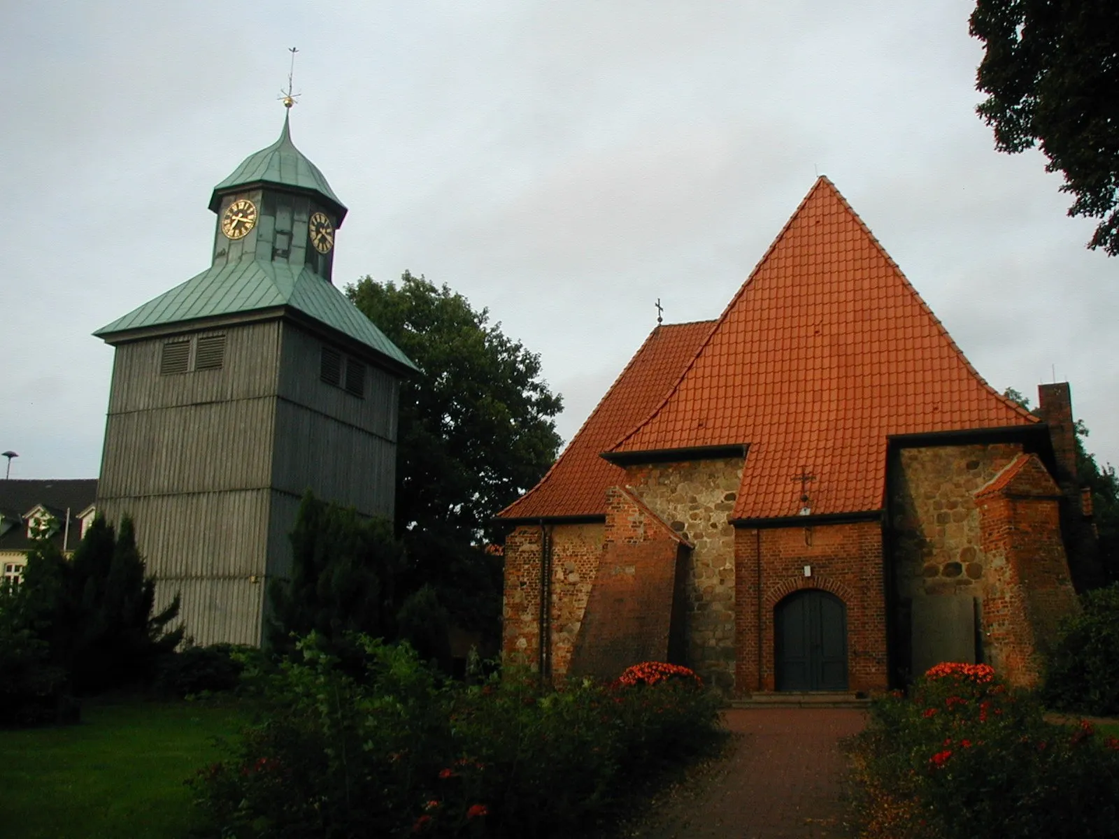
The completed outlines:
{"type": "Polygon", "coordinates": [[[160,375],[167,337],[116,348],[97,507],[132,516],[158,604],[179,592],[198,643],[258,643],[280,323],[191,334],[218,333],[217,370],[160,375]]]}

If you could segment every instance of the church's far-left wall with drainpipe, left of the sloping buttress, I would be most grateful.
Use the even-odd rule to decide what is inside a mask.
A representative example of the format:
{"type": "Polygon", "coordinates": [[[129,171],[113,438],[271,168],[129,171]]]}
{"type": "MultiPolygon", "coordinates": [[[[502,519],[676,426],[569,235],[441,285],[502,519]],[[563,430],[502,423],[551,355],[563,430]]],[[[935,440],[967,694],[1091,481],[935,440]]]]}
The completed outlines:
{"type": "MultiPolygon", "coordinates": [[[[571,663],[591,584],[599,568],[603,525],[545,525],[551,538],[551,669],[562,679],[571,663]]],[[[505,540],[505,663],[537,669],[540,621],[540,526],[520,525],[505,540]]]]}

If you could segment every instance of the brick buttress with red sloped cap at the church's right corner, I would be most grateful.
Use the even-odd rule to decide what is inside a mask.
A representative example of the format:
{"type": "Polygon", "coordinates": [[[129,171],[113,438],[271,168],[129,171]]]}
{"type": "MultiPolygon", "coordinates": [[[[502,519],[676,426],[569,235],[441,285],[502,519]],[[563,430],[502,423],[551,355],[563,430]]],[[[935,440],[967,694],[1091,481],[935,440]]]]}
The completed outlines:
{"type": "Polygon", "coordinates": [[[1061,491],[1035,455],[1022,455],[976,494],[988,558],[982,597],[987,658],[1016,685],[1041,678],[1041,656],[1079,606],[1061,538],[1061,491]]]}

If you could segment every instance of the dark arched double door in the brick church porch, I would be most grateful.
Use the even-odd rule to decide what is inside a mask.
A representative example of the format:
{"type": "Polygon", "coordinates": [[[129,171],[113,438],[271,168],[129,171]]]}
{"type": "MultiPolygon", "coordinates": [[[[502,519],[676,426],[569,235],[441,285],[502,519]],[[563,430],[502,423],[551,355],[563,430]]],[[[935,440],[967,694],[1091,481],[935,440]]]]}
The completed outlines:
{"type": "Polygon", "coordinates": [[[816,588],[794,592],[773,610],[778,690],[847,689],[847,609],[816,588]]]}

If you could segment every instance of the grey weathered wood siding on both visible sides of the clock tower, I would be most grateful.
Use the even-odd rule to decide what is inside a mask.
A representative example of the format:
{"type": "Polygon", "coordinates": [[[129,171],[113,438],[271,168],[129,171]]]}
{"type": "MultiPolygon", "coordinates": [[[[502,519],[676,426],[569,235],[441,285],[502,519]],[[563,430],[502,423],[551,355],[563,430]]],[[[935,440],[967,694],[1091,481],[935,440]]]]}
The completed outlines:
{"type": "Polygon", "coordinates": [[[398,380],[361,358],[364,397],[329,385],[322,346],[276,320],[116,348],[98,510],[132,516],[157,604],[180,594],[198,643],[261,642],[307,490],[393,515],[398,380]],[[218,333],[220,369],[160,374],[168,340],[218,333]]]}

